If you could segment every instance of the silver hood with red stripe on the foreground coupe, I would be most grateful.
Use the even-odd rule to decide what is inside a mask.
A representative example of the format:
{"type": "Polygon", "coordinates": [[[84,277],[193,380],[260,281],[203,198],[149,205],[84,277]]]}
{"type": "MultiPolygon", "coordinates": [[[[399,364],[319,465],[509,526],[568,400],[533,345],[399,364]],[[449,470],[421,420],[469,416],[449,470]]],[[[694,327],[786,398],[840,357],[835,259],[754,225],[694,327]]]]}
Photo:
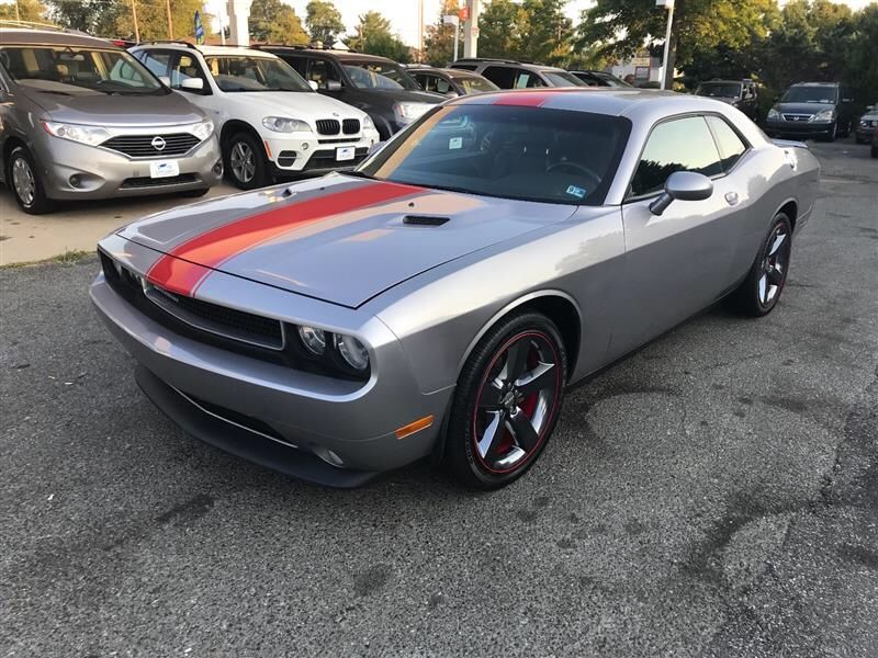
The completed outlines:
{"type": "Polygon", "coordinates": [[[330,174],[175,208],[119,235],[160,252],[147,277],[177,294],[196,296],[223,272],[356,308],[575,209],[330,174]]]}

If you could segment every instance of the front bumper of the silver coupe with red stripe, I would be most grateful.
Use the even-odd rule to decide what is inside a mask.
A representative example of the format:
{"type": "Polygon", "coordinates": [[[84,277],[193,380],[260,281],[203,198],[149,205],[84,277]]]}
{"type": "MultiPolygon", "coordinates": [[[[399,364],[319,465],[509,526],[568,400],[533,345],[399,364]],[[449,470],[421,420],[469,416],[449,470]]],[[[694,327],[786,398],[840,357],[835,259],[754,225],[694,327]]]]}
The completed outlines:
{"type": "MultiPolygon", "coordinates": [[[[117,294],[103,275],[90,293],[111,332],[146,370],[138,383],[147,395],[183,429],[223,450],[301,479],[356,486],[427,456],[439,435],[452,389],[421,394],[399,342],[385,327],[375,329],[383,327],[378,320],[370,331],[385,336],[373,340],[372,377],[347,382],[176,333],[117,294]],[[396,438],[396,429],[426,416],[435,417],[431,427],[396,438]],[[342,468],[315,466],[327,450],[344,461],[342,468]]],[[[277,294],[285,295],[288,306],[299,298],[277,294]]],[[[303,306],[314,304],[303,299],[303,306]]]]}

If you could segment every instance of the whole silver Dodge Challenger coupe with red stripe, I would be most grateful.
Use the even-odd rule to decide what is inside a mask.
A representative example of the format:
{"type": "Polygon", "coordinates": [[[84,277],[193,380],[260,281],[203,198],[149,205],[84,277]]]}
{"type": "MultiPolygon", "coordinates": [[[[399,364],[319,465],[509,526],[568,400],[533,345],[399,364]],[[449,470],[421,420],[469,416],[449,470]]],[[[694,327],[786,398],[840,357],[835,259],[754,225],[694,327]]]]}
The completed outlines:
{"type": "Polygon", "coordinates": [[[722,297],[769,313],[819,174],[705,98],[466,97],[351,173],[120,229],[91,297],[207,443],[325,485],[431,456],[496,488],[570,384],[722,297]]]}

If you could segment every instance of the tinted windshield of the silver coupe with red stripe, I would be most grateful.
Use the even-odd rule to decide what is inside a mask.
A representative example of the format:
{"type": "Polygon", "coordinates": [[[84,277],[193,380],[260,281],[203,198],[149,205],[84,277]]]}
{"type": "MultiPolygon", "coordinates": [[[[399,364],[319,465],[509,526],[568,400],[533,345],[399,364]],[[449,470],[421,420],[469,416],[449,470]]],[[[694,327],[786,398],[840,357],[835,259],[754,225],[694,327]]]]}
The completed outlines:
{"type": "Polygon", "coordinates": [[[380,180],[486,196],[599,205],[627,118],[513,105],[442,105],[358,170],[380,180]]]}

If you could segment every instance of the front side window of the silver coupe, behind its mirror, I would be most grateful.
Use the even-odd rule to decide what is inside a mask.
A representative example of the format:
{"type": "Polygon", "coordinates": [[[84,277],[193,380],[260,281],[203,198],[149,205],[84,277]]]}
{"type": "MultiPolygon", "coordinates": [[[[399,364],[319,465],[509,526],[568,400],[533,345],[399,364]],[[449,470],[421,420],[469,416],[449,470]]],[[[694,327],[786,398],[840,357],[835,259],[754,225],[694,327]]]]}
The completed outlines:
{"type": "Polygon", "coordinates": [[[687,116],[656,125],[631,181],[630,196],[660,192],[677,171],[720,175],[722,162],[703,116],[687,116]]]}

